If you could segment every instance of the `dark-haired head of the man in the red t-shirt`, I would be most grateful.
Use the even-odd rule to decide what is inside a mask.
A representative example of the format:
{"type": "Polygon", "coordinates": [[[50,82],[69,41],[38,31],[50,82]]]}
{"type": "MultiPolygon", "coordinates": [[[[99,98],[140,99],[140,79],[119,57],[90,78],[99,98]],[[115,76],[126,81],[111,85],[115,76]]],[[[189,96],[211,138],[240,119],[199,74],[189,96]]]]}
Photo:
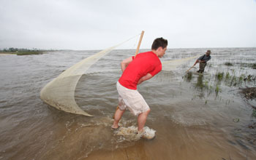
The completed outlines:
{"type": "Polygon", "coordinates": [[[167,45],[168,41],[161,37],[154,40],[151,49],[155,54],[157,54],[158,57],[162,57],[163,55],[165,55],[167,45]]]}

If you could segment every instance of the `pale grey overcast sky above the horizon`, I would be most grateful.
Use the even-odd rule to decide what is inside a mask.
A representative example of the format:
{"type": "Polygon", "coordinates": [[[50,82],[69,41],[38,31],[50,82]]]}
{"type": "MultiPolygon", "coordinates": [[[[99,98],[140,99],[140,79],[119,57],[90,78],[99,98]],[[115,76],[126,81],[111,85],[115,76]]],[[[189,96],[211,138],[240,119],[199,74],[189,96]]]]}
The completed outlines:
{"type": "Polygon", "coordinates": [[[256,47],[256,1],[0,0],[1,49],[105,49],[141,31],[140,48],[256,47]]]}

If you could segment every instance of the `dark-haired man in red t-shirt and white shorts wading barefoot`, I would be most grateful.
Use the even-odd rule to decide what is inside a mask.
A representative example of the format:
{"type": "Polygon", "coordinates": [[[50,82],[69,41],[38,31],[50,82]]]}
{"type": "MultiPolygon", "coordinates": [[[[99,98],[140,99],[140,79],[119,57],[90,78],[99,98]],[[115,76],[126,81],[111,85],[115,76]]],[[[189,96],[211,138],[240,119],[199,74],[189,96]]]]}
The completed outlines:
{"type": "Polygon", "coordinates": [[[137,85],[151,79],[162,70],[159,57],[165,55],[167,40],[155,39],[151,52],[143,52],[137,56],[128,57],[121,62],[123,74],[116,84],[118,90],[118,109],[114,116],[112,129],[117,129],[124,111],[128,108],[138,116],[138,132],[143,133],[150,108],[137,90],[137,85]]]}

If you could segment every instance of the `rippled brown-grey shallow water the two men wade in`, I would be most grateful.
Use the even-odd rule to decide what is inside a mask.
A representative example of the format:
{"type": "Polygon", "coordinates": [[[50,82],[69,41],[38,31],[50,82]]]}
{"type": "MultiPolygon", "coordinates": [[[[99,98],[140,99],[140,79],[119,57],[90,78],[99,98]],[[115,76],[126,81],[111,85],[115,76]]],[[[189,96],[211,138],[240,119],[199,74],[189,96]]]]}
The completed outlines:
{"type": "MultiPolygon", "coordinates": [[[[255,63],[255,48],[211,49],[212,59],[203,76],[195,73],[197,65],[191,79],[185,78],[184,72],[195,63],[189,60],[143,82],[138,89],[151,108],[146,126],[156,130],[157,136],[150,141],[132,140],[110,129],[119,64],[135,50],[113,50],[78,82],[75,100],[94,117],[64,113],[40,100],[45,84],[97,52],[0,57],[0,159],[256,158],[256,131],[248,127],[255,122],[249,105],[255,101],[239,94],[239,87],[255,87],[255,81],[230,85],[231,79],[217,81],[215,77],[221,72],[256,75],[255,69],[241,66],[255,63]]],[[[203,52],[206,49],[168,49],[162,61],[203,52]]],[[[121,127],[136,126],[135,116],[124,113],[121,127]]]]}

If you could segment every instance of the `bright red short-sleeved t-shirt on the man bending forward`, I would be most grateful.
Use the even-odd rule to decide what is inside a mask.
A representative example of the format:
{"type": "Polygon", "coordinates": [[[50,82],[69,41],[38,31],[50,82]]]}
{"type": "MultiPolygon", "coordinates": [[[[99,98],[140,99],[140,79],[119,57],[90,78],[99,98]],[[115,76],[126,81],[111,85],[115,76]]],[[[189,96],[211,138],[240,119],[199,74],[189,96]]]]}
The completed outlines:
{"type": "Polygon", "coordinates": [[[132,57],[132,62],[125,68],[124,73],[118,80],[128,89],[137,89],[141,77],[150,73],[152,76],[162,70],[162,63],[154,52],[143,52],[132,57]]]}

